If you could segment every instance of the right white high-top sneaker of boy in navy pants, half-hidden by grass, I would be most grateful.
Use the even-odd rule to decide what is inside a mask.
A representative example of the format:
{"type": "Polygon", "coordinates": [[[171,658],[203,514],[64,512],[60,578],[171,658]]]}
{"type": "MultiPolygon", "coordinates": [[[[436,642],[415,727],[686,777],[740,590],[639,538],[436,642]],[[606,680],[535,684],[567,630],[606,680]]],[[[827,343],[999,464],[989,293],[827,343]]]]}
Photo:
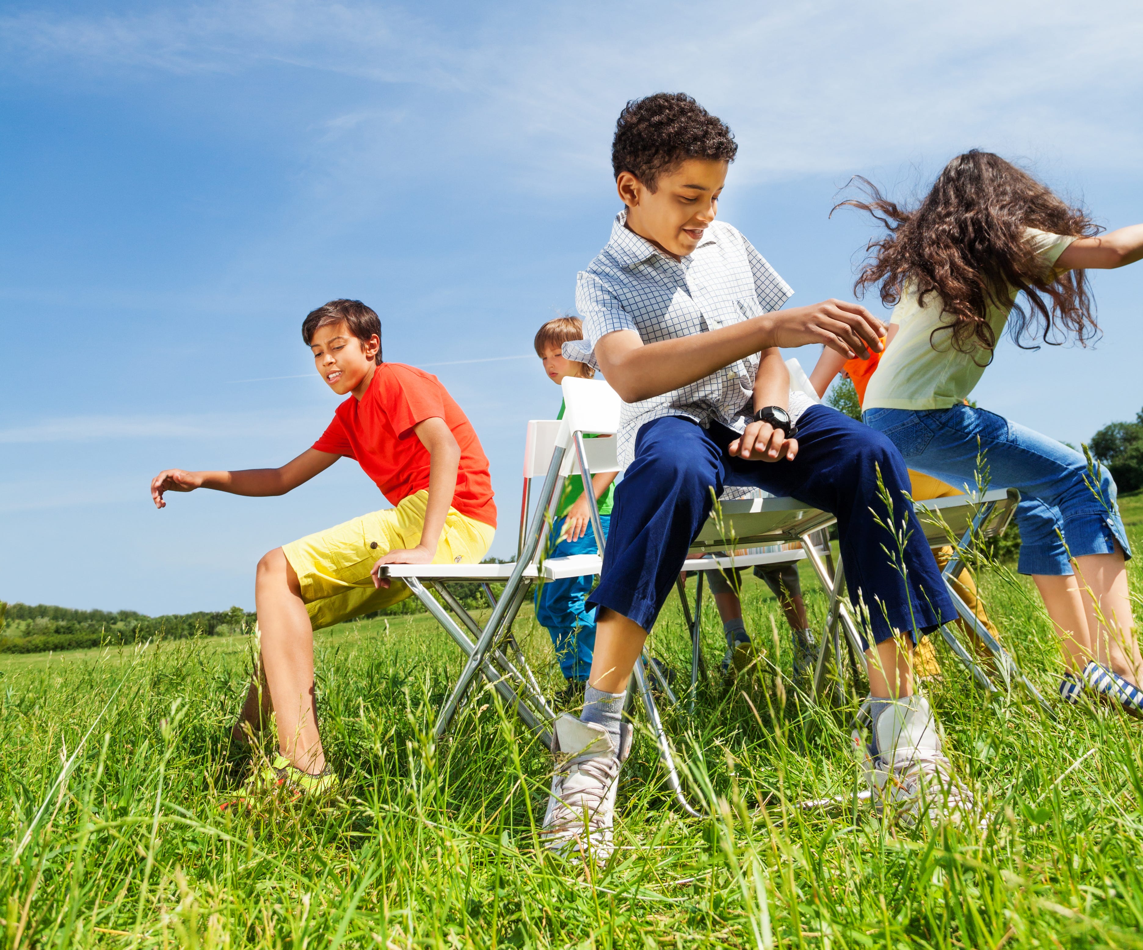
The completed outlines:
{"type": "Polygon", "coordinates": [[[853,743],[878,811],[888,807],[910,827],[925,811],[934,823],[942,815],[957,823],[972,821],[973,793],[953,776],[941,751],[928,700],[912,695],[892,703],[866,742],[870,706],[866,700],[857,713],[853,743]]]}

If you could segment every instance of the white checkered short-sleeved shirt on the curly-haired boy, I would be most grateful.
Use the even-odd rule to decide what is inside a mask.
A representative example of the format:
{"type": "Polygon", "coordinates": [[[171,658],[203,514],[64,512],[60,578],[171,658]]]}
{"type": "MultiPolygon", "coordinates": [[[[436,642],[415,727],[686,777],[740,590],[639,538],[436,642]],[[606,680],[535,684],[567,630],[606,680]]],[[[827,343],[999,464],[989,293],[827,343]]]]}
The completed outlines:
{"type": "MultiPolygon", "coordinates": [[[[712,222],[698,247],[674,261],[629,231],[625,222],[626,209],[616,215],[607,247],[576,279],[584,338],[563,344],[568,359],[598,368],[596,344],[615,330],[636,330],[644,343],[674,340],[777,310],[793,293],[729,224],[712,222]]],[[[624,402],[620,465],[626,468],[634,461],[639,428],[654,418],[682,416],[704,429],[717,421],[742,432],[753,413],[758,362],[753,354],[663,396],[624,402]]],[[[809,405],[805,394],[791,392],[792,418],[797,421],[809,405]]]]}

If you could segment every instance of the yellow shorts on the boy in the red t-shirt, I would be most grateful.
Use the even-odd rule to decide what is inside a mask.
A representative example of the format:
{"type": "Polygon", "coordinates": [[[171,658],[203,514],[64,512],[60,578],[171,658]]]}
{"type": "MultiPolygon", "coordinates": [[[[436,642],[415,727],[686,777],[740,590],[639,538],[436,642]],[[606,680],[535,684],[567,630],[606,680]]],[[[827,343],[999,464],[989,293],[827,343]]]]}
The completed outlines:
{"type": "MultiPolygon", "coordinates": [[[[381,610],[413,593],[403,581],[395,580],[387,590],[378,590],[369,572],[390,551],[421,543],[427,502],[429,493],[417,492],[397,508],[374,511],[282,545],[301,582],[302,600],[314,630],[381,610]]],[[[479,564],[495,534],[490,525],[450,508],[433,564],[479,564]]]]}

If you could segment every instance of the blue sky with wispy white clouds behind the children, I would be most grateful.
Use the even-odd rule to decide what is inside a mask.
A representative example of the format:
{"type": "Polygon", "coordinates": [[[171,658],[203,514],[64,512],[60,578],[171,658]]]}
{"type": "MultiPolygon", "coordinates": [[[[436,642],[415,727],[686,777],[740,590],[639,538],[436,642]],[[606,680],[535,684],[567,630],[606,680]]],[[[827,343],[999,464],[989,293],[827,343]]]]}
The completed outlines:
{"type": "MultiPolygon", "coordinates": [[[[281,498],[147,497],[313,441],[336,399],[298,329],[338,296],[469,413],[507,554],[525,422],[558,406],[530,340],[607,239],[624,101],[685,90],[732,126],[721,217],[812,303],[849,295],[870,234],[829,218],[853,174],[908,194],[981,146],[1143,221],[1141,48],[1113,1],[9,0],[0,598],[253,608],[262,553],[384,506],[350,461],[281,498]]],[[[1069,441],[1134,417],[1143,265],[1093,284],[1103,340],[1005,344],[982,406],[1069,441]]]]}

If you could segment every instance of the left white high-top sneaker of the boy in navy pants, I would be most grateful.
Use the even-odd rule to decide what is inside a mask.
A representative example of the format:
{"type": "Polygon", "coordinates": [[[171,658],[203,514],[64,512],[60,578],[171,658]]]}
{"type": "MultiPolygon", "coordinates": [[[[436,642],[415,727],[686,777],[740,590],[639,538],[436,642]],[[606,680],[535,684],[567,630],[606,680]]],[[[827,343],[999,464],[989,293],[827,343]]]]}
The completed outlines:
{"type": "Polygon", "coordinates": [[[546,848],[581,854],[602,867],[615,849],[612,825],[620,769],[631,753],[631,724],[620,726],[620,748],[607,729],[565,712],[555,720],[555,772],[539,832],[546,848]]]}

